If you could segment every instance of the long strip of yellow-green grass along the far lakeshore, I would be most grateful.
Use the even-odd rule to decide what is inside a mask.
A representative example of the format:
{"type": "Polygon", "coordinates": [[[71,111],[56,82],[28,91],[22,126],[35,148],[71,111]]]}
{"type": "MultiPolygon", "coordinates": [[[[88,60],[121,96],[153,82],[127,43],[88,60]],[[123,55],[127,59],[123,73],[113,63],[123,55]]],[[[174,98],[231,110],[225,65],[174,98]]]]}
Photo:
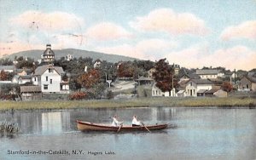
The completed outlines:
{"type": "Polygon", "coordinates": [[[0,110],[114,108],[140,106],[256,106],[255,98],[137,98],[131,100],[34,100],[1,101],[0,110]]]}

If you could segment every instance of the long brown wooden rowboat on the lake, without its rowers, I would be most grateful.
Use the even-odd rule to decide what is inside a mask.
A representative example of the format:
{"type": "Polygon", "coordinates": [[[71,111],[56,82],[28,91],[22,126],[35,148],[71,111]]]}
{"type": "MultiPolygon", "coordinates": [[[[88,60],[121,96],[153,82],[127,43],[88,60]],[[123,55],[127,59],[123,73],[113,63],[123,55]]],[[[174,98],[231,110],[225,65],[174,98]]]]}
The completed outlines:
{"type": "Polygon", "coordinates": [[[123,125],[119,126],[112,126],[109,124],[102,124],[102,123],[89,123],[77,120],[78,129],[80,131],[124,131],[124,132],[131,132],[131,131],[148,131],[148,130],[160,130],[166,129],[167,124],[154,124],[154,125],[145,125],[145,126],[136,126],[132,127],[131,125],[123,125]]]}

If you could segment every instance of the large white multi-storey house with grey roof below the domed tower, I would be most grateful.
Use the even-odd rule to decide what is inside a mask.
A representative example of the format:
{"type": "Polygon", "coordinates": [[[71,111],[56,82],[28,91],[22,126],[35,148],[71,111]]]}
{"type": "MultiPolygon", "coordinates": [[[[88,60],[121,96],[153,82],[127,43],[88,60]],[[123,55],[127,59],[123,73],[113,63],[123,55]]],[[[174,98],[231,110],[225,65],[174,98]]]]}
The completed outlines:
{"type": "Polygon", "coordinates": [[[42,93],[69,93],[68,83],[61,79],[64,74],[60,66],[38,66],[32,75],[32,83],[41,86],[42,93]]]}

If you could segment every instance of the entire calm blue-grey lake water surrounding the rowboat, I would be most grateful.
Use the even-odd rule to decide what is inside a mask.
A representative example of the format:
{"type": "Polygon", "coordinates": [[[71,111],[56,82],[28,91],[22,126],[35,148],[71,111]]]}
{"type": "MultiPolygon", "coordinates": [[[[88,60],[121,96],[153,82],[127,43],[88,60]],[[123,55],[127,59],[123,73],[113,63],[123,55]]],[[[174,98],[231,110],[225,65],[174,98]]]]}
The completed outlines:
{"type": "Polygon", "coordinates": [[[0,159],[256,159],[256,110],[150,107],[0,112],[21,134],[0,138],[0,159]],[[169,123],[152,133],[82,133],[75,120],[169,123]],[[15,154],[14,154],[15,153],[15,154]]]}

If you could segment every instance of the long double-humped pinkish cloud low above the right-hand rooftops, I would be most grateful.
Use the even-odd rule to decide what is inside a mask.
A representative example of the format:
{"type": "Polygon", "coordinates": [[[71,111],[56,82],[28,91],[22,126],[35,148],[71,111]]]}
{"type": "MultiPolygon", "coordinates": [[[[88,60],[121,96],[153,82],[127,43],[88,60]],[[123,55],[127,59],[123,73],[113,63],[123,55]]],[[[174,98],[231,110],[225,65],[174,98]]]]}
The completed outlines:
{"type": "Polygon", "coordinates": [[[212,54],[207,49],[191,46],[189,49],[172,52],[166,58],[171,63],[174,62],[189,68],[224,66],[231,70],[249,71],[256,67],[256,51],[240,45],[229,49],[218,49],[212,54]]]}

